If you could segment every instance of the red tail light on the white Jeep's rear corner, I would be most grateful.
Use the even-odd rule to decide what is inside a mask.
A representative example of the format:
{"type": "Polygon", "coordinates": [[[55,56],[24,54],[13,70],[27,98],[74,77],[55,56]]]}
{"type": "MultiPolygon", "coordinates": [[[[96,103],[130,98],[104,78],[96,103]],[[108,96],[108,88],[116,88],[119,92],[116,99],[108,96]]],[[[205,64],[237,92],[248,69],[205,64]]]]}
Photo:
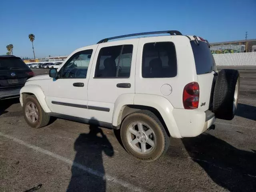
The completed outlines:
{"type": "Polygon", "coordinates": [[[197,82],[187,84],[183,90],[183,106],[185,109],[196,109],[199,104],[199,85],[197,82]]]}

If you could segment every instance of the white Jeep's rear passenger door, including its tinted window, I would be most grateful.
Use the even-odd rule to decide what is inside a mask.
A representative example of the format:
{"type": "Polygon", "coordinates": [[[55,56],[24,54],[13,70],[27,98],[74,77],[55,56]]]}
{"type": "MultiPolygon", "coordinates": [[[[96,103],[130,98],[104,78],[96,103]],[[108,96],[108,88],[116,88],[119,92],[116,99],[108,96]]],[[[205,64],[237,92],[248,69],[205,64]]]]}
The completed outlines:
{"type": "Polygon", "coordinates": [[[138,39],[99,44],[88,82],[90,118],[112,123],[114,103],[122,94],[135,93],[135,62],[138,39]]]}

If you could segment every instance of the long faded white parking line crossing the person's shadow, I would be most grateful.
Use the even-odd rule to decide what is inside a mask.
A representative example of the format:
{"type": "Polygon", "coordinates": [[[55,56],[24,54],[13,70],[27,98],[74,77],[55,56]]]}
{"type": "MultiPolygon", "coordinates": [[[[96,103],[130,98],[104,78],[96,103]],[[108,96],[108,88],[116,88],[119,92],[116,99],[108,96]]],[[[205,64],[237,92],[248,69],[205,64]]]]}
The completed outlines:
{"type": "Polygon", "coordinates": [[[45,150],[43,148],[40,148],[38,146],[34,146],[34,145],[31,145],[31,144],[28,144],[28,143],[26,143],[26,142],[24,142],[24,141],[22,141],[22,140],[20,140],[18,138],[12,137],[10,135],[6,135],[6,134],[4,134],[2,132],[0,132],[0,136],[8,138],[8,139],[10,139],[10,140],[20,144],[20,145],[26,146],[27,148],[31,148],[31,149],[35,150],[36,152],[40,152],[42,154],[46,154],[46,155],[48,155],[48,156],[50,156],[52,158],[55,158],[55,159],[60,160],[62,162],[65,162],[65,163],[69,164],[70,166],[75,166],[76,168],[79,168],[79,169],[81,169],[81,170],[83,170],[85,172],[88,172],[89,174],[92,174],[92,175],[100,177],[100,178],[102,178],[104,180],[108,180],[108,181],[114,182],[116,184],[119,184],[119,185],[121,185],[121,186],[123,186],[125,188],[128,188],[131,191],[139,191],[139,192],[140,191],[141,192],[142,191],[143,192],[146,191],[146,190],[144,190],[142,188],[134,186],[133,184],[130,184],[129,182],[126,182],[124,180],[120,180],[117,177],[114,177],[114,176],[111,176],[111,175],[108,175],[108,174],[104,174],[104,173],[98,172],[96,170],[93,170],[92,168],[89,168],[89,167],[86,167],[86,166],[84,166],[82,164],[73,162],[72,160],[70,160],[68,158],[62,157],[62,156],[60,156],[58,154],[55,154],[53,152],[50,152],[50,151],[45,150]]]}

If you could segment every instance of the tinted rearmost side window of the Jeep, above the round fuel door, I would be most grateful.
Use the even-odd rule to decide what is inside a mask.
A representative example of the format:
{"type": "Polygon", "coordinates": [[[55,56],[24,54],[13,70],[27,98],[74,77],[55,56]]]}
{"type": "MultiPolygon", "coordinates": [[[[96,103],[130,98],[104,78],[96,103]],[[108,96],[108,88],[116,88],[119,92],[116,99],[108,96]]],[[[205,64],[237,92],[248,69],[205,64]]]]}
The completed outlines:
{"type": "Polygon", "coordinates": [[[143,78],[170,78],[177,75],[174,43],[153,42],[144,44],[142,53],[143,78]]]}

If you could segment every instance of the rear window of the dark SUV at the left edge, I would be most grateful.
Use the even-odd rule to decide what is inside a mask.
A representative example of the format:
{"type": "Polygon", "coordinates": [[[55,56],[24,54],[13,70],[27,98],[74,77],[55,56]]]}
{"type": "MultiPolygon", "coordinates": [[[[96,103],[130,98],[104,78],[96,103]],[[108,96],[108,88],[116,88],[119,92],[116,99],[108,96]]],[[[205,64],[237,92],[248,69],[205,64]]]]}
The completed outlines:
{"type": "Polygon", "coordinates": [[[0,58],[0,70],[29,69],[20,58],[0,58]]]}

